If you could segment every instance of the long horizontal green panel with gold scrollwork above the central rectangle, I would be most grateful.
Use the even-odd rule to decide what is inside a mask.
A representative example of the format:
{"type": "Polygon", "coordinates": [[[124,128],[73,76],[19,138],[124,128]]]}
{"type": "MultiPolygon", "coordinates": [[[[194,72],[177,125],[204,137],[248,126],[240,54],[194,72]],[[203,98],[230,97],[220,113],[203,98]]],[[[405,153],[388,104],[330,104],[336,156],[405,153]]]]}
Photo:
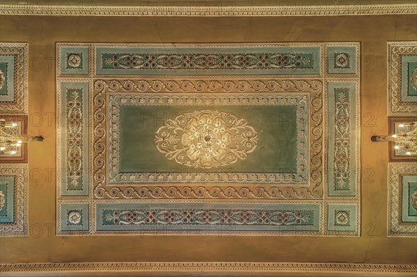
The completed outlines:
{"type": "Polygon", "coordinates": [[[320,75],[319,44],[96,44],[102,75],[320,75]]]}

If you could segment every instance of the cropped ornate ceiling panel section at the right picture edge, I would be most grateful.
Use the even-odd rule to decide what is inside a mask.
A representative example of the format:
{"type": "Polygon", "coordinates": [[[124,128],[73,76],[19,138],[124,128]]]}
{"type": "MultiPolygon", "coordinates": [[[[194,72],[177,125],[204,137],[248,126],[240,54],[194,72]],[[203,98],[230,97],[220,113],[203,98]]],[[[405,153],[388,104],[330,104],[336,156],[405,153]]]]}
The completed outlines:
{"type": "Polygon", "coordinates": [[[388,235],[417,236],[417,42],[388,42],[389,135],[409,137],[389,142],[388,235]],[[414,136],[413,136],[414,132],[414,136]],[[407,140],[406,140],[407,142],[407,140]]]}

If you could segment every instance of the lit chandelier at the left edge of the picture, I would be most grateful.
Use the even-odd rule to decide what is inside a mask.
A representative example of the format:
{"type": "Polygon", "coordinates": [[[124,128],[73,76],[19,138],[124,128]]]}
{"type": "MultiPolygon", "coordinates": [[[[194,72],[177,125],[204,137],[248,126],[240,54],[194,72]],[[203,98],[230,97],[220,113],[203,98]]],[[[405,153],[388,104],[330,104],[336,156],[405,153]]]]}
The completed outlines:
{"type": "Polygon", "coordinates": [[[42,142],[42,135],[31,136],[22,135],[17,131],[17,123],[6,121],[0,118],[0,155],[13,156],[19,152],[19,148],[24,143],[42,142]]]}

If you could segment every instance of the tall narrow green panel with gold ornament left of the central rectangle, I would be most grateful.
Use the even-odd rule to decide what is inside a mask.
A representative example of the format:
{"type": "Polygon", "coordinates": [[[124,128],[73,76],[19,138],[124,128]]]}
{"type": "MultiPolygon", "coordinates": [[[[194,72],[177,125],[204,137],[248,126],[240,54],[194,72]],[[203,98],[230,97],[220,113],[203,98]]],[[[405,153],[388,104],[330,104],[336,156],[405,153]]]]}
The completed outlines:
{"type": "Polygon", "coordinates": [[[88,196],[89,82],[65,79],[59,83],[57,99],[60,154],[57,159],[59,192],[88,196]]]}

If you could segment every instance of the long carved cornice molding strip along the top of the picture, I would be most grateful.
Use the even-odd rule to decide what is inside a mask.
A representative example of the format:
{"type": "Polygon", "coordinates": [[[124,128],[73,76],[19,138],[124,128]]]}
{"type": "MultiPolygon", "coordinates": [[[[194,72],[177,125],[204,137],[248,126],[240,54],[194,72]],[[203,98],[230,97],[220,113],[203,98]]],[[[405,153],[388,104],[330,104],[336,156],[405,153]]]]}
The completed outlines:
{"type": "MultiPolygon", "coordinates": [[[[147,3],[147,2],[146,2],[147,3]]],[[[198,4],[198,2],[196,2],[198,4]]],[[[224,6],[176,6],[170,2],[161,6],[149,2],[142,6],[95,6],[94,2],[83,5],[62,6],[39,5],[37,3],[1,5],[0,15],[67,15],[67,16],[152,16],[152,17],[276,17],[276,16],[337,16],[337,15],[414,15],[417,6],[412,3],[383,5],[314,5],[307,4],[281,6],[233,6],[226,2],[224,6]]]]}

